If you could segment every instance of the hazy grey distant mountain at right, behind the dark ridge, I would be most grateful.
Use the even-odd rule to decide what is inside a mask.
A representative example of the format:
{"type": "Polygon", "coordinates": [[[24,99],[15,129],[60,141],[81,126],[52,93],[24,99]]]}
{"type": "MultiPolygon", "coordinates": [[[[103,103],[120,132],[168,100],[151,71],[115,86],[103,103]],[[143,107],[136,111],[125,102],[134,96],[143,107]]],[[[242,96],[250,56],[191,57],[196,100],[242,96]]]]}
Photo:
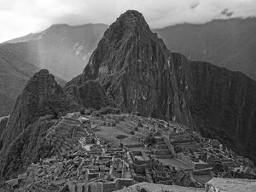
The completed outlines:
{"type": "Polygon", "coordinates": [[[256,79],[256,18],[212,20],[156,29],[167,47],[193,61],[208,61],[256,79]]]}

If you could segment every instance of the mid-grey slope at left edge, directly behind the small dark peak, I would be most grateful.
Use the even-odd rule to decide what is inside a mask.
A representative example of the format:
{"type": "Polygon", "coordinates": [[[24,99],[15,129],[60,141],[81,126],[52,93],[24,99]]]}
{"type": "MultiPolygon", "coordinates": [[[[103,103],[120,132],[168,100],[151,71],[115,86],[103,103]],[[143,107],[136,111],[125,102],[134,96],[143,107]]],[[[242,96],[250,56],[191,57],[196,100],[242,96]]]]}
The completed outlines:
{"type": "MultiPolygon", "coordinates": [[[[26,60],[26,55],[15,53],[6,45],[0,44],[0,117],[11,113],[28,79],[40,70],[26,60]]],[[[61,85],[65,84],[62,79],[56,80],[61,85]]]]}

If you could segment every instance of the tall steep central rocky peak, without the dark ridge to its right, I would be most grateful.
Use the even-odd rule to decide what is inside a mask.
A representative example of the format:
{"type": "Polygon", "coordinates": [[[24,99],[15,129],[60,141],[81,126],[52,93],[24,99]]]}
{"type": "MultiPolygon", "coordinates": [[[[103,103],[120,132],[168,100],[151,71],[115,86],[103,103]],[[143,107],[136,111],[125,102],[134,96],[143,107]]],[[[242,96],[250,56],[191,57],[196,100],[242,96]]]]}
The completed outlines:
{"type": "Polygon", "coordinates": [[[110,100],[127,112],[140,111],[189,124],[189,108],[178,94],[172,58],[143,15],[127,11],[104,33],[84,73],[67,84],[98,79],[110,100]]]}

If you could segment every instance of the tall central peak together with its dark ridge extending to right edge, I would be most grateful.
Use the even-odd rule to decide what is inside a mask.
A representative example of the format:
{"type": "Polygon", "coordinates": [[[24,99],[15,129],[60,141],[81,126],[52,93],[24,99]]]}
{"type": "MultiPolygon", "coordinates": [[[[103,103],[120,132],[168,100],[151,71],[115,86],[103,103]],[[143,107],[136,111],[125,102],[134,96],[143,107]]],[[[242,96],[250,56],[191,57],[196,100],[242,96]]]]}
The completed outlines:
{"type": "Polygon", "coordinates": [[[64,90],[72,94],[88,80],[102,84],[109,101],[125,112],[189,125],[256,160],[255,81],[172,53],[137,11],[119,16],[64,90]]]}

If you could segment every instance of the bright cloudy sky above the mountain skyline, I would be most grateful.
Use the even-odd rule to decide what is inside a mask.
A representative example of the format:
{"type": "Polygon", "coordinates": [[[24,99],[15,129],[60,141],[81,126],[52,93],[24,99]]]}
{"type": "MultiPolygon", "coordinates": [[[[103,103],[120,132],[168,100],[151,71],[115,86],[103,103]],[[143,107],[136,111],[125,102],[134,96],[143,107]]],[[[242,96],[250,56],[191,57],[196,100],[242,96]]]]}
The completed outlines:
{"type": "Polygon", "coordinates": [[[58,23],[109,25],[127,9],[160,28],[256,16],[256,0],[0,0],[0,43],[58,23]]]}

